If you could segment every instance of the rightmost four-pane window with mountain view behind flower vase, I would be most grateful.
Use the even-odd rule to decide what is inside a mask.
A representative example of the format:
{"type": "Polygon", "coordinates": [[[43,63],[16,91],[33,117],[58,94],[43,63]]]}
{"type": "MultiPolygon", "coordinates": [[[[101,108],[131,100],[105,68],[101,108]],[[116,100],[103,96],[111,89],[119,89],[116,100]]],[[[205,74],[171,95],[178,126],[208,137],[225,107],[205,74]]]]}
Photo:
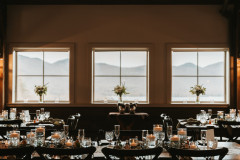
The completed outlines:
{"type": "Polygon", "coordinates": [[[206,88],[201,103],[228,103],[227,49],[172,48],[172,102],[194,102],[190,87],[206,88]]]}

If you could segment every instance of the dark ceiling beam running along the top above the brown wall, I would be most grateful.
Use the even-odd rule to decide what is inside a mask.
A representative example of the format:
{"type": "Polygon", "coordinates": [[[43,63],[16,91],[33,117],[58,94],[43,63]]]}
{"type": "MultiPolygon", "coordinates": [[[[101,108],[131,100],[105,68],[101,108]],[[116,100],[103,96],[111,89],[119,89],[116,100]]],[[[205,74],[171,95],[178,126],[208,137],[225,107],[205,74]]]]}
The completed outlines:
{"type": "MultiPolygon", "coordinates": [[[[5,0],[8,5],[220,5],[224,0],[5,0]]],[[[233,2],[234,0],[230,0],[233,2]]]]}

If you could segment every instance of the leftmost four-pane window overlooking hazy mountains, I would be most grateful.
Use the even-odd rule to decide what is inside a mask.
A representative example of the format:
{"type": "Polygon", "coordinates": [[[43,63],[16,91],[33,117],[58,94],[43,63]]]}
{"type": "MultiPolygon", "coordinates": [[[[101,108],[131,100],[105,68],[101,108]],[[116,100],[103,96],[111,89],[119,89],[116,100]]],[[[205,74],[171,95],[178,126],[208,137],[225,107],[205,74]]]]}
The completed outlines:
{"type": "Polygon", "coordinates": [[[13,52],[12,102],[39,102],[35,85],[47,85],[44,102],[69,102],[68,48],[21,48],[13,52]]]}

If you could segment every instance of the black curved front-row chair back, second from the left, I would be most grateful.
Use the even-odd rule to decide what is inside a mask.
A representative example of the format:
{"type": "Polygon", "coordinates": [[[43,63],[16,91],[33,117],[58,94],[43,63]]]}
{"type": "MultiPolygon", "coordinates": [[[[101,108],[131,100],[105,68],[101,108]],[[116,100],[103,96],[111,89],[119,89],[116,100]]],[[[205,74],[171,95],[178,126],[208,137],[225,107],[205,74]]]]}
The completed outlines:
{"type": "Polygon", "coordinates": [[[48,159],[48,155],[83,155],[87,154],[86,160],[92,159],[93,153],[96,151],[95,147],[88,147],[88,148],[74,148],[74,149],[64,149],[64,148],[46,148],[46,147],[39,147],[36,149],[42,159],[48,159]]]}

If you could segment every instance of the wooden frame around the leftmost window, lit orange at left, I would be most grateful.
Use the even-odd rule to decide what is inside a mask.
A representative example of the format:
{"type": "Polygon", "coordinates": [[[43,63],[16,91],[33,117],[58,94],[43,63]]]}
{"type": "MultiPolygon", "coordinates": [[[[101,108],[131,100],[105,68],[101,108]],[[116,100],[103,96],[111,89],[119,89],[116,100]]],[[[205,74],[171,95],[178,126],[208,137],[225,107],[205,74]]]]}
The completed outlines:
{"type": "MultiPolygon", "coordinates": [[[[22,101],[17,101],[16,97],[16,87],[17,87],[17,74],[14,75],[13,67],[15,67],[15,72],[17,72],[17,64],[14,66],[14,59],[17,58],[13,56],[17,56],[14,54],[15,51],[69,51],[69,101],[59,101],[58,104],[73,104],[74,103],[74,44],[73,43],[10,43],[9,47],[9,55],[8,55],[8,70],[11,71],[8,74],[8,90],[7,90],[7,104],[23,104],[22,101]],[[14,76],[14,77],[13,77],[14,76]],[[13,81],[15,81],[15,86],[13,85],[13,81]],[[15,94],[13,100],[12,94],[15,94]]],[[[44,63],[44,61],[43,61],[44,63]]],[[[44,65],[43,65],[44,67],[44,65]]],[[[44,74],[44,73],[43,73],[44,74]]],[[[34,75],[35,76],[35,75],[34,75]]],[[[43,76],[43,75],[42,75],[43,76]]],[[[44,76],[43,76],[44,77],[44,76]]],[[[42,77],[42,78],[43,78],[42,77]]],[[[28,103],[24,103],[24,105],[32,105],[32,104],[56,104],[55,101],[45,101],[44,103],[40,103],[37,101],[29,101],[28,103]]]]}

